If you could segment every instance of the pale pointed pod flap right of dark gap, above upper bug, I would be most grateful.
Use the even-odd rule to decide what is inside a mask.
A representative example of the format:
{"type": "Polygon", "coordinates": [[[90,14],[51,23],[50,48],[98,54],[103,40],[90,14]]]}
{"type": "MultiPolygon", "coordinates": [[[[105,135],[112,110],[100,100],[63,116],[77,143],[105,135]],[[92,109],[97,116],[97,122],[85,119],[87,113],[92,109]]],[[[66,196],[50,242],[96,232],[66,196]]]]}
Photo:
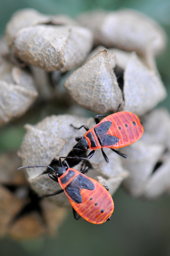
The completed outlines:
{"type": "Polygon", "coordinates": [[[124,71],[124,111],[142,115],[165,99],[166,90],[160,77],[131,54],[124,71]]]}

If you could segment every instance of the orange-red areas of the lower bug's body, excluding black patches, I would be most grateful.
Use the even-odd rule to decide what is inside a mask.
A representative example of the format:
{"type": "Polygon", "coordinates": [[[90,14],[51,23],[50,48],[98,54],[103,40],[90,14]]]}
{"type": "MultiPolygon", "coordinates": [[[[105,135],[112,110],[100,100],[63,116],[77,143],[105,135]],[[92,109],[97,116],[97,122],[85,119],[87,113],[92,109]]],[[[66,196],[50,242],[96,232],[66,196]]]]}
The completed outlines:
{"type": "MultiPolygon", "coordinates": [[[[79,171],[68,168],[67,171],[58,178],[58,182],[64,192],[68,196],[70,204],[74,208],[74,210],[85,220],[94,224],[101,224],[107,221],[108,218],[111,217],[112,212],[114,210],[114,203],[111,195],[98,181],[95,179],[89,178],[86,175],[80,173],[79,171]],[[74,175],[68,179],[66,183],[62,183],[62,178],[66,177],[69,171],[74,171],[74,175]],[[89,179],[94,184],[93,190],[81,189],[80,193],[82,196],[82,202],[76,203],[74,202],[70,195],[67,193],[67,186],[74,180],[78,175],[83,175],[85,178],[89,179]],[[103,211],[104,210],[104,211],[103,211]]],[[[77,183],[78,185],[78,183],[77,183]]]]}

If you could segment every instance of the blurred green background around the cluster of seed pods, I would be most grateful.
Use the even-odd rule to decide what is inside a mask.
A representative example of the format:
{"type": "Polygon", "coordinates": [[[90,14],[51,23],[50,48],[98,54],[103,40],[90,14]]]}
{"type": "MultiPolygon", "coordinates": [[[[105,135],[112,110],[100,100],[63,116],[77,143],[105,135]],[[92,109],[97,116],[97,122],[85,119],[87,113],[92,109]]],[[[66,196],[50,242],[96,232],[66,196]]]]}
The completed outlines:
{"type": "MultiPolygon", "coordinates": [[[[154,18],[170,35],[169,0],[6,0],[0,1],[0,33],[12,13],[21,8],[35,8],[45,14],[77,14],[91,9],[116,10],[137,9],[154,18]]],[[[170,95],[170,44],[157,59],[158,69],[170,95]]],[[[159,104],[170,110],[169,97],[159,104]]],[[[51,111],[53,112],[53,111],[51,111]]],[[[54,114],[65,113],[60,106],[54,114]]],[[[37,123],[43,117],[37,112],[0,129],[0,153],[20,146],[24,135],[25,122],[37,123]]],[[[86,116],[90,115],[86,112],[86,116]]],[[[155,201],[132,199],[121,189],[113,195],[115,210],[111,221],[93,225],[83,219],[75,221],[70,210],[66,221],[59,228],[58,236],[43,237],[34,241],[17,242],[9,238],[0,240],[0,255],[170,255],[170,197],[163,196],[155,201]]]]}

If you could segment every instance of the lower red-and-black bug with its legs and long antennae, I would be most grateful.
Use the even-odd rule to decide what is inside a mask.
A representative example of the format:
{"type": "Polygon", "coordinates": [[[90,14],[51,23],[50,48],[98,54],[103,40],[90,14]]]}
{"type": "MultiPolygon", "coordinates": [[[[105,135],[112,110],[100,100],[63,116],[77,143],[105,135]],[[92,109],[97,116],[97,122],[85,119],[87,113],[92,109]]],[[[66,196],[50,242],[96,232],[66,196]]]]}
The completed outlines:
{"type": "Polygon", "coordinates": [[[88,160],[83,157],[59,157],[61,166],[57,167],[56,170],[46,165],[23,166],[18,168],[18,170],[31,167],[48,167],[52,169],[56,176],[52,174],[48,175],[54,181],[59,182],[62,189],[47,196],[58,195],[64,191],[73,207],[73,215],[76,220],[82,217],[94,224],[109,221],[114,210],[114,203],[108,192],[108,188],[101,185],[97,180],[84,175],[88,166],[80,173],[70,168],[67,161],[65,161],[67,166],[64,166],[61,158],[88,160]],[[79,214],[79,216],[77,214],[79,214]]]}

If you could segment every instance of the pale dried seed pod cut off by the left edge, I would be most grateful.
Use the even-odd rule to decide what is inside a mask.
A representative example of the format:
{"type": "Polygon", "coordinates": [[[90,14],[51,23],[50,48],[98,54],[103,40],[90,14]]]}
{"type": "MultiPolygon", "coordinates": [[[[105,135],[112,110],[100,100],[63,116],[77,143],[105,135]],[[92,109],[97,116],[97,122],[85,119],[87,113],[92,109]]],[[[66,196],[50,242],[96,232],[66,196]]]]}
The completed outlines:
{"type": "Polygon", "coordinates": [[[0,124],[24,114],[38,93],[31,74],[3,62],[0,66],[0,124]]]}

